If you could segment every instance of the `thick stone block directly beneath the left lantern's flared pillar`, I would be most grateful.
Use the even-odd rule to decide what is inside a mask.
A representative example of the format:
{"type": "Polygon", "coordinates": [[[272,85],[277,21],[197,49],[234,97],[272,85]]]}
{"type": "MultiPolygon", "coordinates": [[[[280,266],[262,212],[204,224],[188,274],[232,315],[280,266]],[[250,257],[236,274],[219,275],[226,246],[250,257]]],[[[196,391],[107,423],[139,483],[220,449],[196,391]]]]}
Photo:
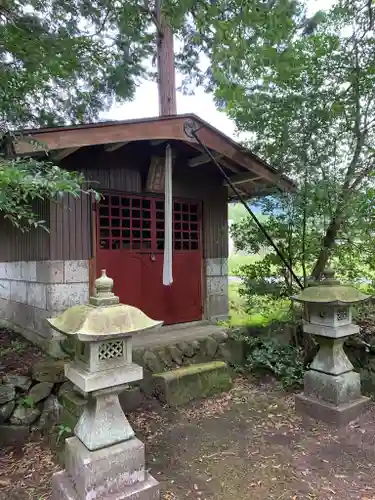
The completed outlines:
{"type": "Polygon", "coordinates": [[[112,498],[144,482],[144,463],[144,444],[137,438],[93,452],[76,437],[65,441],[65,470],[82,499],[112,498]]]}

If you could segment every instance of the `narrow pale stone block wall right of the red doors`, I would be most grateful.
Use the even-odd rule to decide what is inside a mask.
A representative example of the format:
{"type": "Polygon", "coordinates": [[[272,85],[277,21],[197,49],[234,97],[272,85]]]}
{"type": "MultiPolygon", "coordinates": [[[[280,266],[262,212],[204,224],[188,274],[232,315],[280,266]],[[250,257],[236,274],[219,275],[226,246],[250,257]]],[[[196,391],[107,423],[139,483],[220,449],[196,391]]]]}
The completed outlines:
{"type": "Polygon", "coordinates": [[[206,259],[205,316],[212,321],[225,320],[229,314],[228,259],[206,259]]]}

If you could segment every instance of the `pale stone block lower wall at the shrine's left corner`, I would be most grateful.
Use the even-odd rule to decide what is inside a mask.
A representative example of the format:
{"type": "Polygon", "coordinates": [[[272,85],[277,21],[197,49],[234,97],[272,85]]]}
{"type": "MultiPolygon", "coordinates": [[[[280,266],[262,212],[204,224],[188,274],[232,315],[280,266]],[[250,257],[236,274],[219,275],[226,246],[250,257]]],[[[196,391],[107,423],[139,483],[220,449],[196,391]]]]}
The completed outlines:
{"type": "Polygon", "coordinates": [[[0,263],[0,319],[52,356],[59,335],[45,319],[88,298],[87,260],[0,263]]]}

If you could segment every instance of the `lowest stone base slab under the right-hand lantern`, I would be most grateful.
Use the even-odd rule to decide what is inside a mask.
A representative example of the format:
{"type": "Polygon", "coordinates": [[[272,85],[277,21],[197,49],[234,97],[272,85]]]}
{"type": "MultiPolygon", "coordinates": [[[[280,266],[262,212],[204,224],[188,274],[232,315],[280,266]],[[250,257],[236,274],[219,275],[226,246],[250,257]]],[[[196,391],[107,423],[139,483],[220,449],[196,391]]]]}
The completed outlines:
{"type": "Polygon", "coordinates": [[[335,406],[305,394],[295,398],[295,409],[300,415],[329,424],[344,426],[359,418],[370,406],[370,399],[361,396],[356,401],[335,406]]]}

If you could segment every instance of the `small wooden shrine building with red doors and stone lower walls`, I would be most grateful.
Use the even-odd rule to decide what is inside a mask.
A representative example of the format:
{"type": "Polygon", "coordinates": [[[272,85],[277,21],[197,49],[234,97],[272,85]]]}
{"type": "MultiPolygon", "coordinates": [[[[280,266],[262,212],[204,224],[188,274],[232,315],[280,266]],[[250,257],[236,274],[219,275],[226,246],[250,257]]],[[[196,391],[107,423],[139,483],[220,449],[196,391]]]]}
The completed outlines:
{"type": "MultiPolygon", "coordinates": [[[[88,300],[100,270],[116,295],[165,324],[216,321],[228,315],[228,201],[233,192],[195,139],[199,129],[233,183],[247,198],[290,190],[290,180],[195,115],[28,130],[50,158],[82,172],[100,202],[87,195],[38,204],[43,229],[22,233],[0,221],[2,319],[54,352],[45,323],[88,300]],[[164,286],[164,180],[166,143],[173,151],[173,283],[164,286]]],[[[19,155],[45,158],[24,140],[19,155]]]]}

